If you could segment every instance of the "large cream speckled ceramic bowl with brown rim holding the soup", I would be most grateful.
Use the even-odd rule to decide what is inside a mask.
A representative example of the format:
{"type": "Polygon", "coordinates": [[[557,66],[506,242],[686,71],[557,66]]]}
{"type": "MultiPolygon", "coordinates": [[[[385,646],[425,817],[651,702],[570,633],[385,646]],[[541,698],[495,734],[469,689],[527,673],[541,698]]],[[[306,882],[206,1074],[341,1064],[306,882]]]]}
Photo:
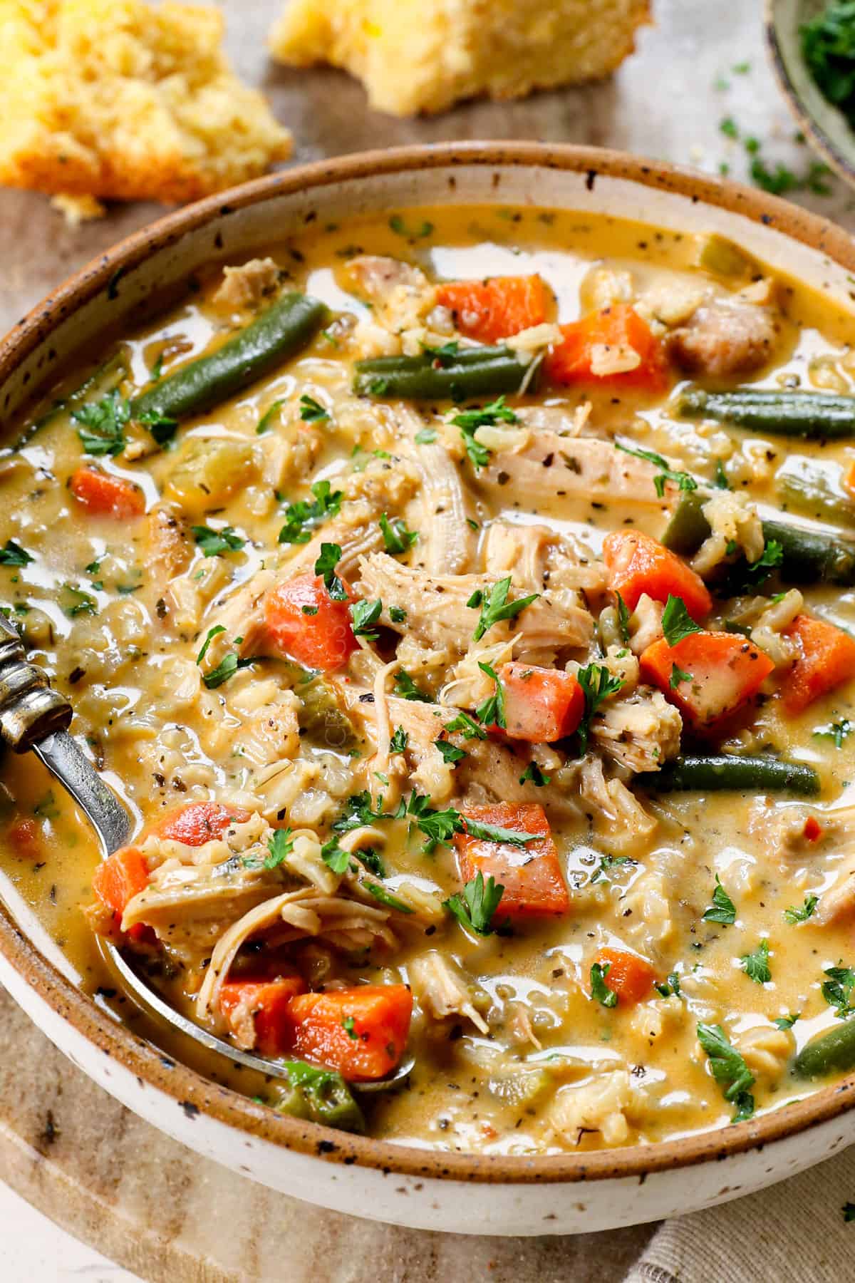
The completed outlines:
{"type": "MultiPolygon", "coordinates": [[[[413,204],[501,203],[719,232],[855,310],[855,242],[793,205],[735,183],[591,148],[409,148],[287,169],[191,205],[83,268],[0,344],[8,420],[86,343],[210,260],[317,218],[413,204]]],[[[0,911],[0,981],[81,1069],[192,1150],[337,1211],[414,1228],[549,1234],[692,1211],[759,1189],[855,1141],[855,1078],[746,1123],[655,1146],[541,1157],[404,1147],[281,1117],[190,1069],[96,1007],[0,911]]]]}

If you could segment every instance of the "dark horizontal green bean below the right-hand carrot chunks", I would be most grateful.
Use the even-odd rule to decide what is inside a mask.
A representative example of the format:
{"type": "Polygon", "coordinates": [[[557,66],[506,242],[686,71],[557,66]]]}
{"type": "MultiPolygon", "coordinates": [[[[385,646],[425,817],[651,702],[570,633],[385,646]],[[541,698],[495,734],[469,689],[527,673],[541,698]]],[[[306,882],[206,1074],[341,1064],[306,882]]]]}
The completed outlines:
{"type": "Polygon", "coordinates": [[[787,762],[781,757],[717,756],[678,757],[660,771],[638,775],[637,783],[658,793],[693,793],[732,789],[756,793],[819,793],[819,776],[813,766],[787,762]]]}

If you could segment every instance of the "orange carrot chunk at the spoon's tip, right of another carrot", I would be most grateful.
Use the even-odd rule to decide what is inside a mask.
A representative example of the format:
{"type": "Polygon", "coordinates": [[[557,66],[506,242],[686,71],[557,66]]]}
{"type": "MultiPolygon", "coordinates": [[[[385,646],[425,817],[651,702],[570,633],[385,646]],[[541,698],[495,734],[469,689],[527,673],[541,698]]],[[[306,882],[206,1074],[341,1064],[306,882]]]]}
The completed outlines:
{"type": "Polygon", "coordinates": [[[351,1083],[383,1078],[406,1047],[413,994],[405,984],[360,984],[304,993],[287,1011],[295,1056],[328,1065],[351,1083]]]}

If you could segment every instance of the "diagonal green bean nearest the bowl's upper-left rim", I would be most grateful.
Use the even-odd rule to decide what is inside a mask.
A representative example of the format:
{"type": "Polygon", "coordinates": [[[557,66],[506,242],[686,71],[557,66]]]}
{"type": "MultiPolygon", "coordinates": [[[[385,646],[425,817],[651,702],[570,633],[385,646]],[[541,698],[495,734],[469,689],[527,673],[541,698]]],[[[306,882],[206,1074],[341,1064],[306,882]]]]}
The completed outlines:
{"type": "Polygon", "coordinates": [[[131,402],[133,418],[181,420],[209,409],[267,375],[311,340],[327,308],[308,294],[283,294],[209,357],[176,370],[131,402]]]}

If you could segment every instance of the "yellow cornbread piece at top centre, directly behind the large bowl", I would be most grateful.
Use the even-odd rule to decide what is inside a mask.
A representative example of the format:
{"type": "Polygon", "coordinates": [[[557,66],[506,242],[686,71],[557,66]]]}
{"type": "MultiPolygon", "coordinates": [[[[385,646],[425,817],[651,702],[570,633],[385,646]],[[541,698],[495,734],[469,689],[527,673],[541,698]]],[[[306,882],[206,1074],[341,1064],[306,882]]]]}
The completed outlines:
{"type": "Polygon", "coordinates": [[[290,0],[270,51],[344,67],[372,106],[413,115],[606,76],[649,21],[649,0],[290,0]]]}

